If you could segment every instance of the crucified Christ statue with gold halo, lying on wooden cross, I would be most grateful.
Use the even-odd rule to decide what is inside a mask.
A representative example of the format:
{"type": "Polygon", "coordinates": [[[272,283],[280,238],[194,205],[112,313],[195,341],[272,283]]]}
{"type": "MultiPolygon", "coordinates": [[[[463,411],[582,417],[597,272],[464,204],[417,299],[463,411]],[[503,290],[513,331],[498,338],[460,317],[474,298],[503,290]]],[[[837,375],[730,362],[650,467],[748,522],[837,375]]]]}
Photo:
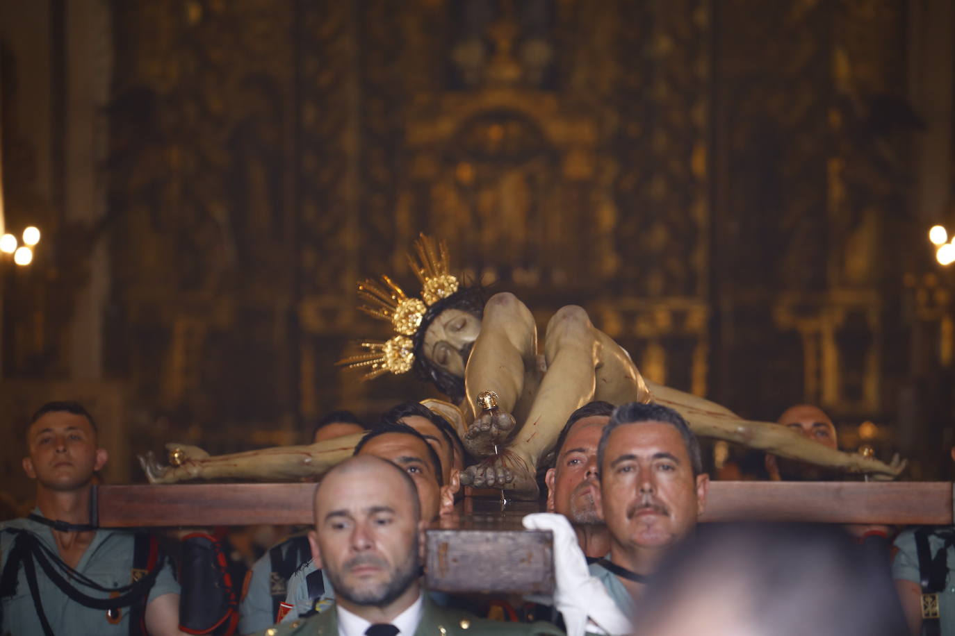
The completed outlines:
{"type": "MultiPolygon", "coordinates": [[[[845,472],[892,478],[904,468],[898,458],[886,464],[840,452],[786,427],[746,421],[710,400],[645,380],[626,350],[595,328],[578,306],[554,314],[541,349],[534,318],[518,297],[500,293],[485,303],[479,287],[461,286],[449,274],[443,245],[421,236],[416,248],[418,260],[411,261],[424,287],[420,299],[407,297],[387,277],[385,286],[371,280],[359,285],[359,293],[375,303],[367,311],[390,320],[398,335],[364,342],[367,353],[343,362],[370,367],[369,378],[414,369],[459,404],[462,441],[478,460],[461,473],[463,484],[536,493],[541,459],[570,413],[592,400],[659,402],[683,415],[702,437],[845,472]],[[497,411],[477,406],[478,394],[485,391],[498,395],[497,411]]],[[[220,457],[180,446],[179,465],[143,465],[151,482],[301,477],[321,474],[344,459],[352,442],[339,439],[220,457]]]]}

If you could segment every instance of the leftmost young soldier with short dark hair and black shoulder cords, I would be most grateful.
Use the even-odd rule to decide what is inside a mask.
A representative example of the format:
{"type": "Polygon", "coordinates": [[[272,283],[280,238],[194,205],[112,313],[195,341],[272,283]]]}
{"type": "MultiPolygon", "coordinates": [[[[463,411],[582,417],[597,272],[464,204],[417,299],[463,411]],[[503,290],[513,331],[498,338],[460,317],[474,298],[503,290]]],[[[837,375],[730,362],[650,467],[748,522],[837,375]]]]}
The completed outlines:
{"type": "Polygon", "coordinates": [[[89,525],[94,473],[107,460],[89,413],[50,402],[33,416],[27,441],[23,467],[36,481],[36,507],[0,526],[0,633],[139,633],[131,621],[154,636],[182,633],[171,562],[137,564],[133,532],[89,525]],[[117,595],[129,600],[111,604],[117,595]]]}

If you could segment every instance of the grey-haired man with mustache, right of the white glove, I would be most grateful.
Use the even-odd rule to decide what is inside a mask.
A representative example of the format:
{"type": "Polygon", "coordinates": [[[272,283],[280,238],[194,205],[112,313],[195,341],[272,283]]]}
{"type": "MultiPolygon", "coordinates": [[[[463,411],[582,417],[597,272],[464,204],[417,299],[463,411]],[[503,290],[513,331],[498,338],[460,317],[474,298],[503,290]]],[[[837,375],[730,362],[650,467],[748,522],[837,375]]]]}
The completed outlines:
{"type": "Polygon", "coordinates": [[[632,616],[647,578],[696,525],[710,477],[687,422],[659,404],[618,406],[601,435],[597,462],[597,509],[610,551],[590,571],[632,616]]]}

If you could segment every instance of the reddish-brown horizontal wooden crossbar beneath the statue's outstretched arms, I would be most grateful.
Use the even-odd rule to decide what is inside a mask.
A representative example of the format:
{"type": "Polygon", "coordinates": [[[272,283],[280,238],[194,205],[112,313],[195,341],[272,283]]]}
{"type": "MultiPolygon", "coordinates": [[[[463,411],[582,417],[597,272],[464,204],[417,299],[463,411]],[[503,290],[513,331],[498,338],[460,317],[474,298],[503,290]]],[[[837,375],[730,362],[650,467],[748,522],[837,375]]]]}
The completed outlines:
{"type": "MultiPolygon", "coordinates": [[[[96,487],[102,527],[311,523],[313,483],[96,487]]],[[[703,522],[953,523],[949,482],[711,482],[703,522]]],[[[465,504],[464,516],[467,517],[465,504]]],[[[478,529],[517,529],[501,518],[478,529]]],[[[473,527],[473,526],[472,526],[473,527]]]]}

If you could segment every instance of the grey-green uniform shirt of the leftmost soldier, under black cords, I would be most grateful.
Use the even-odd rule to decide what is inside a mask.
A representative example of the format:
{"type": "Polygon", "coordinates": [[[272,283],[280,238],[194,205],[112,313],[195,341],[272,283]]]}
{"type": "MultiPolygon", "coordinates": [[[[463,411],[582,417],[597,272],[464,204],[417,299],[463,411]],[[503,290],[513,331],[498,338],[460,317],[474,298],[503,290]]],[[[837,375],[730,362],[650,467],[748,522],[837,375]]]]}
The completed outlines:
{"type": "MultiPolygon", "coordinates": [[[[34,514],[39,515],[38,509],[34,514]]],[[[53,530],[42,523],[30,519],[14,519],[0,524],[0,572],[6,570],[7,560],[11,553],[16,535],[10,529],[27,530],[34,535],[41,544],[49,548],[53,554],[58,554],[56,542],[53,539],[53,530]]],[[[93,541],[76,565],[75,569],[96,585],[103,587],[120,587],[130,585],[143,572],[134,571],[133,552],[135,533],[126,530],[96,530],[93,541]]],[[[12,574],[12,573],[11,573],[12,574]]],[[[85,595],[96,598],[109,598],[109,594],[98,591],[78,581],[72,581],[74,587],[85,595]]],[[[95,609],[80,605],[70,599],[51,581],[43,570],[36,566],[36,585],[39,597],[42,600],[43,612],[50,622],[54,634],[70,634],[71,636],[90,636],[130,633],[130,608],[122,607],[107,615],[103,609],[95,609]]],[[[42,634],[36,607],[30,593],[24,565],[20,565],[15,573],[15,586],[12,590],[3,590],[11,594],[0,599],[2,603],[2,625],[0,633],[27,636],[42,634]]],[[[180,586],[176,582],[173,565],[165,559],[159,570],[152,588],[149,590],[146,604],[163,594],[179,594],[180,586]]]]}

